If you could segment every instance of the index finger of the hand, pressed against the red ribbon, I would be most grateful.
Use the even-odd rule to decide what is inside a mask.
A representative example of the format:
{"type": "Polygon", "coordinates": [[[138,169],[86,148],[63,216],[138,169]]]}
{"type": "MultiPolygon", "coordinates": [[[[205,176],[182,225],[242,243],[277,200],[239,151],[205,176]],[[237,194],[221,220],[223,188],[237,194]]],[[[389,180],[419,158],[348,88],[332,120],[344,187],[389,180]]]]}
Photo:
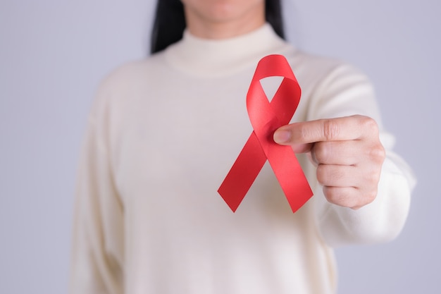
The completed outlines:
{"type": "Polygon", "coordinates": [[[280,145],[299,145],[325,141],[361,140],[378,135],[378,126],[367,116],[345,116],[284,125],[274,133],[280,145]]]}

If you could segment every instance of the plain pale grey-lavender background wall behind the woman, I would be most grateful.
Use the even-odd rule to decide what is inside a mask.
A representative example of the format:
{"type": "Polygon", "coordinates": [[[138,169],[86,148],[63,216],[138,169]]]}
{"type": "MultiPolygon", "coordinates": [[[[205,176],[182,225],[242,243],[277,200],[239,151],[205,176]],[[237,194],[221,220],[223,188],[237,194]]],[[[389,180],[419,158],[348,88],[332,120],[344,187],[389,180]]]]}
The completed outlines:
{"type": "MultiPolygon", "coordinates": [[[[437,0],[286,0],[288,39],[373,80],[418,176],[386,245],[337,250],[339,293],[439,293],[437,0]]],[[[78,149],[94,90],[147,54],[153,1],[0,1],[0,293],[66,293],[78,149]]]]}

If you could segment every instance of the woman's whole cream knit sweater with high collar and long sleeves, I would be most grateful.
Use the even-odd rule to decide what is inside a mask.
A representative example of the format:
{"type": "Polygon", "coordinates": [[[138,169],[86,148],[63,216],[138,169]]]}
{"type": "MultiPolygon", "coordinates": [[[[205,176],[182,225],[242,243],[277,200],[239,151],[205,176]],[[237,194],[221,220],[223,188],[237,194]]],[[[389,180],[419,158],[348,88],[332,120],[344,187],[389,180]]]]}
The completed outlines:
{"type": "MultiPolygon", "coordinates": [[[[269,25],[224,40],[184,38],[104,80],[80,161],[70,293],[334,293],[331,247],[391,240],[414,180],[391,151],[378,197],[359,210],[314,196],[293,214],[268,162],[232,213],[216,192],[252,129],[245,97],[268,54],[290,61],[302,87],[292,121],[380,116],[366,77],[304,54],[269,25]]],[[[268,93],[276,79],[266,80],[268,93]]]]}

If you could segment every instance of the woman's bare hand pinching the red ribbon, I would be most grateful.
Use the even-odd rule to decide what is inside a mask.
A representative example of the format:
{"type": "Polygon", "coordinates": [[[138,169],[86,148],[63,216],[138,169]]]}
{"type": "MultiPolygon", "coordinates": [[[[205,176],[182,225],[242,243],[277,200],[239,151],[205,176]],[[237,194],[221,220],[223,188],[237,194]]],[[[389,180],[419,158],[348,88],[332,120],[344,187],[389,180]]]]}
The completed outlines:
{"type": "Polygon", "coordinates": [[[309,153],[326,199],[359,209],[375,200],[385,149],[378,125],[367,116],[347,116],[284,125],[274,141],[309,153]]]}

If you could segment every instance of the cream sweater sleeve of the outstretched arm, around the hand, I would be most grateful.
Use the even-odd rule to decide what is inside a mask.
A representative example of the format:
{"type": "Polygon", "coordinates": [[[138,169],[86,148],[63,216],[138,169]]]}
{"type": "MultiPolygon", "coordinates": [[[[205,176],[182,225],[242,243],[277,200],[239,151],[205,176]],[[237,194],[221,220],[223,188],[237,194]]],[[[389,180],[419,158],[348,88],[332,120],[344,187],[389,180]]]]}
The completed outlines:
{"type": "Polygon", "coordinates": [[[325,200],[321,185],[313,184],[318,231],[332,247],[382,243],[395,238],[406,221],[411,190],[416,183],[409,166],[392,151],[394,137],[383,129],[371,82],[352,66],[340,65],[313,91],[308,120],[354,114],[370,116],[378,123],[386,159],[377,197],[361,209],[330,204],[325,200]]]}

